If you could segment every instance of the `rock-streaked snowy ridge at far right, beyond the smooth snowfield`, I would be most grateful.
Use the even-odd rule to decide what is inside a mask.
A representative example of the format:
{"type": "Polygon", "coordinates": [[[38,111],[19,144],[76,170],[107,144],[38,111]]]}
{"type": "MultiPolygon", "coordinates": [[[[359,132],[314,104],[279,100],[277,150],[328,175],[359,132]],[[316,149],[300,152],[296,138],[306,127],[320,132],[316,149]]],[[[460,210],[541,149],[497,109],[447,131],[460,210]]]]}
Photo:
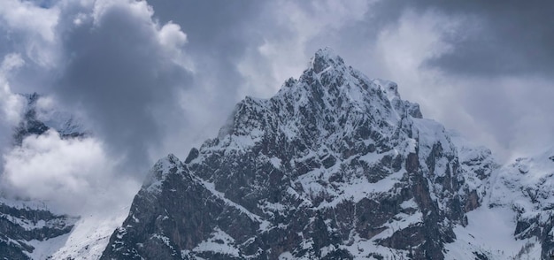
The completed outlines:
{"type": "Polygon", "coordinates": [[[516,225],[513,235],[527,241],[519,255],[550,259],[554,256],[554,148],[520,157],[495,176],[489,208],[510,209],[516,225]]]}

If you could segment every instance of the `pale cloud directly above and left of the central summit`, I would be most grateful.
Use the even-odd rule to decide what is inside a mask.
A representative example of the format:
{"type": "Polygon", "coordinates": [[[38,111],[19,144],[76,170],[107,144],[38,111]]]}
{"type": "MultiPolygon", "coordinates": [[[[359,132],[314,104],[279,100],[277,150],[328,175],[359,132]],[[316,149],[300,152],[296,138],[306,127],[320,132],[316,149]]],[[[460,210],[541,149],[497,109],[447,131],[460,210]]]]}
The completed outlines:
{"type": "Polygon", "coordinates": [[[373,2],[335,0],[282,0],[268,4],[263,15],[265,22],[250,28],[261,35],[264,42],[249,50],[237,65],[245,79],[239,93],[273,96],[285,80],[302,73],[315,50],[327,47],[343,27],[363,19],[371,4],[373,2]],[[310,43],[319,37],[326,43],[319,43],[312,50],[310,43]]]}

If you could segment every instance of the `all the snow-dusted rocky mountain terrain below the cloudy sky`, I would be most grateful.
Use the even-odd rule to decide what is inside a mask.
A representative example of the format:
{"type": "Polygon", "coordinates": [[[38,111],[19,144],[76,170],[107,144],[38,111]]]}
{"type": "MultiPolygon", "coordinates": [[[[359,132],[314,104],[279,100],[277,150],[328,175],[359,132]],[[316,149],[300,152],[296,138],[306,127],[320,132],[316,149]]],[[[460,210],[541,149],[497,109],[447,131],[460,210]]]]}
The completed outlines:
{"type": "MultiPolygon", "coordinates": [[[[27,114],[16,145],[44,127],[84,133],[27,114]]],[[[499,164],[324,49],[184,160],[160,159],[115,231],[15,203],[0,213],[8,259],[550,259],[554,149],[499,164]]]]}

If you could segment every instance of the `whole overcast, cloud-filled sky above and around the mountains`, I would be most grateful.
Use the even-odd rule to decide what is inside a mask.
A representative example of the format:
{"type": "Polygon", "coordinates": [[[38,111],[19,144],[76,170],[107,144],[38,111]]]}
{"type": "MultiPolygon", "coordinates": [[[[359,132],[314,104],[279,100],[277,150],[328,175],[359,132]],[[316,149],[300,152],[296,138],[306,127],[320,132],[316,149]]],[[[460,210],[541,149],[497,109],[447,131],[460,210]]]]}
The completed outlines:
{"type": "Polygon", "coordinates": [[[551,1],[2,0],[4,192],[77,213],[114,196],[128,203],[159,157],[186,157],[235,103],[273,96],[324,47],[510,160],[554,141],[552,10],[551,1]],[[94,134],[10,146],[22,107],[14,94],[32,92],[94,134]]]}

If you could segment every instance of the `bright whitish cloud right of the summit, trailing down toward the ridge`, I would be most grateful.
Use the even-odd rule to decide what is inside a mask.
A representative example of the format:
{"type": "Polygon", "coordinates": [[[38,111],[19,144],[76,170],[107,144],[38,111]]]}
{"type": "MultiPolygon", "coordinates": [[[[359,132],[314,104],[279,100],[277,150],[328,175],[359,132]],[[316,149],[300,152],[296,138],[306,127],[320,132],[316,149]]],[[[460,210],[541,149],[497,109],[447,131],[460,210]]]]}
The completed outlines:
{"type": "Polygon", "coordinates": [[[452,50],[450,44],[443,41],[444,36],[456,34],[466,22],[465,18],[435,11],[407,10],[398,23],[381,30],[373,52],[383,66],[383,76],[398,83],[404,99],[419,103],[424,117],[456,129],[493,149],[499,157],[505,157],[505,148],[495,134],[480,122],[475,111],[467,109],[463,96],[467,86],[474,82],[451,77],[440,68],[425,64],[452,50]]]}

